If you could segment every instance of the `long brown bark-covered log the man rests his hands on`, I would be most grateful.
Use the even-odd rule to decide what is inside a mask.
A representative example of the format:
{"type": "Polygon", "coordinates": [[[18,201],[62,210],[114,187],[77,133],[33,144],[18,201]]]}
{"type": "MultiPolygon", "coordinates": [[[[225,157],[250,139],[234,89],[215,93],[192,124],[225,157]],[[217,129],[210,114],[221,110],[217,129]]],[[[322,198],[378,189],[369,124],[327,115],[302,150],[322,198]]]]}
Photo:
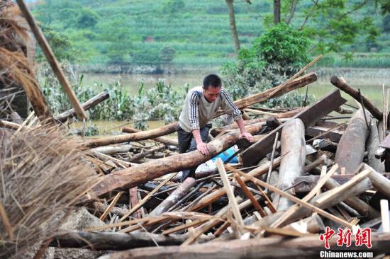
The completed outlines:
{"type": "MultiPolygon", "coordinates": [[[[259,132],[261,128],[260,124],[251,125],[250,127],[247,127],[247,132],[255,134],[259,132]]],[[[217,154],[220,154],[228,149],[230,146],[233,146],[235,142],[237,142],[239,136],[240,132],[237,130],[235,132],[225,134],[218,139],[214,139],[208,143],[209,152],[206,156],[196,150],[189,153],[169,156],[163,159],[156,159],[138,166],[116,171],[115,173],[111,173],[109,175],[104,175],[102,176],[103,178],[101,179],[101,182],[94,186],[94,188],[92,188],[91,191],[81,199],[81,201],[94,199],[99,195],[104,195],[117,188],[132,188],[168,173],[199,166],[199,164],[208,161],[217,154]]]]}

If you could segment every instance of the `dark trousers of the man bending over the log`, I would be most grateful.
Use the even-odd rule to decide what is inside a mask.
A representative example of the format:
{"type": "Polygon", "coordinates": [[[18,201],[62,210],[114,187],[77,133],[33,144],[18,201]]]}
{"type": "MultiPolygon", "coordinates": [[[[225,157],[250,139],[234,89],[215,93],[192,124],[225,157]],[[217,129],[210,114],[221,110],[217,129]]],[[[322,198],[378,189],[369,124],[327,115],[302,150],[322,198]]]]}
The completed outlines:
{"type": "MultiPolygon", "coordinates": [[[[211,127],[212,125],[208,124],[199,129],[201,132],[201,139],[204,143],[207,143],[208,132],[210,132],[211,127]]],[[[177,139],[179,141],[180,154],[196,150],[196,142],[191,132],[185,132],[181,127],[179,127],[177,129],[177,139]]],[[[198,166],[184,170],[182,175],[182,182],[188,177],[195,178],[195,171],[197,167],[198,166]]]]}

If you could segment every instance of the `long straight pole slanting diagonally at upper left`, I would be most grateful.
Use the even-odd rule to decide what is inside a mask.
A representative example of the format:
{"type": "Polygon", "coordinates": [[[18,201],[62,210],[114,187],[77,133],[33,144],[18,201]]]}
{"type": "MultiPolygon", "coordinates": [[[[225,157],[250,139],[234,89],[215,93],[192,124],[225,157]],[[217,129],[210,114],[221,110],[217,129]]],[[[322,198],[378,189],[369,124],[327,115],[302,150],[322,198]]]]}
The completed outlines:
{"type": "MultiPolygon", "coordinates": [[[[52,70],[54,71],[55,76],[57,76],[58,81],[60,81],[60,84],[62,88],[64,89],[65,93],[67,94],[67,97],[69,99],[69,102],[72,104],[73,108],[76,110],[77,116],[80,119],[87,119],[87,114],[83,110],[82,106],[79,103],[79,100],[77,100],[76,94],[74,93],[72,87],[70,86],[69,82],[67,81],[67,78],[65,77],[64,72],[62,71],[60,64],[58,63],[54,53],[52,52],[50,45],[45,39],[45,36],[43,35],[42,31],[38,27],[38,25],[35,23],[35,20],[33,16],[31,15],[30,11],[28,10],[26,4],[23,0],[16,0],[18,3],[19,8],[21,8],[21,12],[23,13],[23,17],[26,19],[28,25],[30,25],[31,31],[34,33],[35,39],[37,40],[38,44],[40,45],[40,48],[42,52],[45,54],[46,59],[48,59],[48,62],[50,63],[50,67],[52,67],[52,70]]],[[[27,93],[27,91],[26,91],[27,93]]],[[[34,109],[35,110],[35,109],[34,109]]],[[[40,117],[39,113],[35,114],[40,117]]]]}

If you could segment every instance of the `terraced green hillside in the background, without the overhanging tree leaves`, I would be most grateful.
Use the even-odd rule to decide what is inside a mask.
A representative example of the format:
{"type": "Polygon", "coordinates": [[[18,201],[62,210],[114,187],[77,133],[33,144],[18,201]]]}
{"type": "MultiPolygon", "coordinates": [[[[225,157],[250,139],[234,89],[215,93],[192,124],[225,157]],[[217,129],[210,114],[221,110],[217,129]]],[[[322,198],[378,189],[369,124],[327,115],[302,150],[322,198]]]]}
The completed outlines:
{"type": "MultiPolygon", "coordinates": [[[[272,2],[254,0],[250,5],[234,1],[241,47],[249,47],[264,33],[271,21],[272,2]]],[[[311,4],[299,1],[293,25],[303,23],[311,4]]],[[[218,67],[235,59],[228,8],[222,0],[46,0],[31,7],[50,44],[57,46],[58,52],[70,53],[65,57],[90,70],[105,71],[113,65],[123,70],[129,65],[218,67]]],[[[361,37],[343,49],[355,52],[352,62],[340,54],[328,54],[323,66],[390,67],[390,32],[384,32],[386,16],[377,12],[371,4],[354,16],[368,14],[374,18],[380,31],[377,41],[361,37]]],[[[316,22],[321,26],[321,21],[316,22]]],[[[309,52],[310,56],[316,54],[315,48],[309,52]]]]}

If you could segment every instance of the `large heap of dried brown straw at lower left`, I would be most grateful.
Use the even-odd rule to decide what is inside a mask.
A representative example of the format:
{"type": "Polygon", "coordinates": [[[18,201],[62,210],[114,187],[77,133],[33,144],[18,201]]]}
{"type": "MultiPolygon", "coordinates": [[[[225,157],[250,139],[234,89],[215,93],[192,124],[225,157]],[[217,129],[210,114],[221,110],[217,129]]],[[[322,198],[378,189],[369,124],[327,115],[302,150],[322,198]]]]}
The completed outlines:
{"type": "Polygon", "coordinates": [[[84,151],[55,127],[2,139],[0,258],[21,253],[55,233],[61,217],[96,184],[84,151]]]}

